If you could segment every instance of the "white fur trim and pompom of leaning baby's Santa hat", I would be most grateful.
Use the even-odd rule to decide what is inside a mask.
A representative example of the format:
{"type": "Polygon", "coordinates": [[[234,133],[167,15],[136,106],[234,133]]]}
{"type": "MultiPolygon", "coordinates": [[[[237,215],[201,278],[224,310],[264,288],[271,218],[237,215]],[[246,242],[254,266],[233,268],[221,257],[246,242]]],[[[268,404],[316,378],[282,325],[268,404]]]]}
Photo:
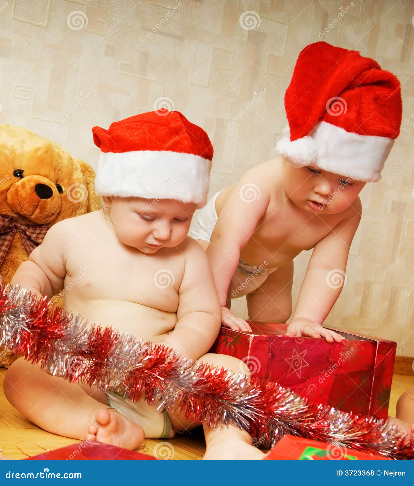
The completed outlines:
{"type": "MultiPolygon", "coordinates": [[[[290,141],[287,133],[276,144],[280,155],[294,167],[312,165],[355,180],[375,182],[381,178],[384,162],[394,139],[360,135],[320,121],[307,137],[290,141]]],[[[284,132],[285,132],[284,130],[284,132]]]]}

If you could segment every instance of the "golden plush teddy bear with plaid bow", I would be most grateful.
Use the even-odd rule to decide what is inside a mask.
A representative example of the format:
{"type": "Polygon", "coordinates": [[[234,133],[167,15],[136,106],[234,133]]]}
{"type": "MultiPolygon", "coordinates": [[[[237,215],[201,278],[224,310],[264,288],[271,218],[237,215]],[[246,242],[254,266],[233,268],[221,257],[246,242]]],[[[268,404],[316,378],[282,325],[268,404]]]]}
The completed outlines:
{"type": "MultiPolygon", "coordinates": [[[[60,220],[95,211],[102,200],[95,172],[60,145],[26,128],[0,125],[0,274],[10,282],[18,266],[60,220]]],[[[54,303],[61,305],[61,297],[54,303]]],[[[14,357],[0,348],[0,366],[14,357]]]]}

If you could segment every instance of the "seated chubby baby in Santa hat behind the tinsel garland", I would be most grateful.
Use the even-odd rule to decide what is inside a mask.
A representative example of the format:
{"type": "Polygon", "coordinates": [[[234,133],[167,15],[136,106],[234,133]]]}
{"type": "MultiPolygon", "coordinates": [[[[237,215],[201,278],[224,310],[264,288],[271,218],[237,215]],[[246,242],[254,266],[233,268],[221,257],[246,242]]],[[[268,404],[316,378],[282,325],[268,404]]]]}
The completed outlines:
{"type": "MultiPolygon", "coordinates": [[[[182,357],[246,371],[236,358],[205,354],[221,310],[207,257],[187,232],[207,201],[213,147],[206,132],[167,110],[92,132],[101,149],[95,190],[105,208],[52,226],[12,283],[48,297],[63,291],[65,309],[90,322],[164,344],[182,357]]],[[[4,391],[24,417],[49,432],[127,449],[144,437],[173,437],[198,425],[144,400],[72,384],[23,359],[7,371],[4,391]]],[[[205,458],[263,457],[252,437],[234,427],[205,428],[205,437],[205,458]]]]}

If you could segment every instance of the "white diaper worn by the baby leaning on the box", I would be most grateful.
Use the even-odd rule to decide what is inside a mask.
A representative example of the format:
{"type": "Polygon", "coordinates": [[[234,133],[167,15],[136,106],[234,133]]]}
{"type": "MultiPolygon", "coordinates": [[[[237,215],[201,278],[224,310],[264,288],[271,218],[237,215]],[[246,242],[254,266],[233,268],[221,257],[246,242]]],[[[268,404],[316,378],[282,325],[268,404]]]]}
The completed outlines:
{"type": "MultiPolygon", "coordinates": [[[[211,234],[217,223],[216,199],[221,191],[208,201],[204,208],[198,209],[193,216],[188,236],[195,240],[209,242],[211,234]]],[[[256,290],[262,283],[276,271],[277,268],[264,268],[262,266],[250,265],[244,260],[239,260],[232,281],[230,282],[231,298],[242,297],[256,290]]]]}

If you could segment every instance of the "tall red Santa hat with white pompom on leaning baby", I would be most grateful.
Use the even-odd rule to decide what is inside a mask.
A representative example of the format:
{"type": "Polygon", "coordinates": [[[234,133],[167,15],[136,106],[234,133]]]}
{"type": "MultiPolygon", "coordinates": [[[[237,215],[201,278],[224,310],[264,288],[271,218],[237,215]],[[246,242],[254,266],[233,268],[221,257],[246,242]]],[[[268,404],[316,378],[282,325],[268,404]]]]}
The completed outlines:
{"type": "Polygon", "coordinates": [[[401,86],[358,51],[309,44],[285,93],[288,126],[276,149],[295,167],[380,179],[401,125],[401,86]]]}

